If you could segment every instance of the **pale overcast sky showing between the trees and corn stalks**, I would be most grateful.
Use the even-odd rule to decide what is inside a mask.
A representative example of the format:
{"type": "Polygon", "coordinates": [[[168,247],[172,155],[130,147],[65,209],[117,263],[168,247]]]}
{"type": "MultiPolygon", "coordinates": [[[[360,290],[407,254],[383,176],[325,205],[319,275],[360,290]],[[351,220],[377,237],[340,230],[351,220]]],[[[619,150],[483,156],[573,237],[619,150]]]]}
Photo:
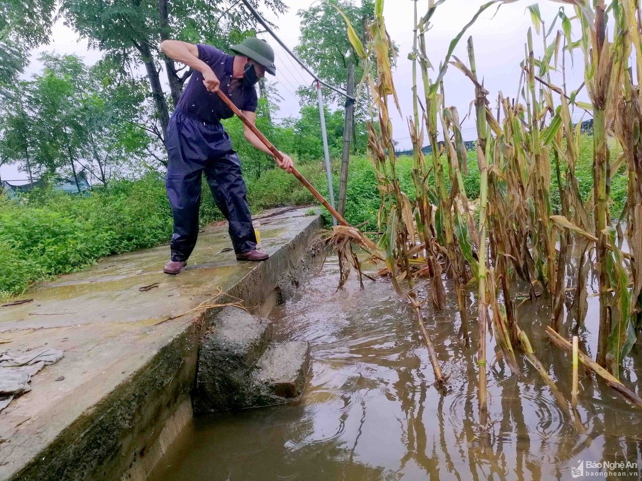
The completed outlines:
{"type": "MultiPolygon", "coordinates": [[[[270,15],[268,19],[279,26],[277,35],[281,37],[281,40],[293,48],[299,38],[300,22],[297,10],[308,8],[314,2],[311,0],[284,1],[290,7],[289,12],[278,18],[270,15]]],[[[484,2],[478,0],[447,0],[437,8],[437,13],[433,16],[433,28],[426,35],[428,56],[433,65],[439,65],[446,55],[451,39],[470,21],[482,3],[484,2]]],[[[466,39],[469,35],[473,36],[478,76],[483,77],[485,87],[490,92],[490,99],[496,98],[500,90],[505,96],[514,97],[516,95],[519,62],[524,56],[526,31],[532,26],[530,14],[525,9],[532,3],[534,0],[518,1],[501,6],[499,11],[496,11],[494,7],[489,8],[462,37],[460,44],[455,49],[455,55],[465,62],[467,58],[466,39]]],[[[559,10],[560,4],[550,0],[538,3],[542,19],[550,24],[559,10]]],[[[427,5],[426,0],[419,1],[419,15],[425,13],[427,5]]],[[[567,9],[569,8],[567,7],[567,9]]],[[[567,13],[570,17],[572,12],[567,13]]],[[[388,33],[399,46],[399,58],[394,72],[394,80],[404,117],[400,117],[396,110],[391,110],[394,139],[397,140],[399,148],[410,148],[412,145],[408,138],[406,117],[412,115],[412,93],[410,90],[412,87],[412,63],[408,60],[408,53],[412,51],[413,1],[386,0],[384,16],[388,33]]],[[[559,22],[556,24],[555,30],[558,28],[561,28],[559,22]]],[[[276,82],[279,93],[283,97],[278,117],[297,115],[299,103],[293,94],[299,85],[307,85],[311,83],[312,79],[293,60],[288,58],[280,46],[270,41],[268,34],[262,34],[261,37],[265,37],[275,47],[277,54],[278,75],[275,79],[271,76],[268,77],[276,82]]],[[[554,34],[550,37],[550,41],[553,40],[554,34]]],[[[542,48],[537,49],[537,46],[542,44],[541,38],[535,38],[534,42],[536,56],[541,55],[542,48]]],[[[40,71],[41,65],[37,58],[43,51],[55,51],[59,54],[74,53],[82,56],[87,63],[94,63],[101,56],[100,52],[89,50],[85,40],[79,39],[73,30],[66,28],[62,22],[59,22],[53,29],[51,43],[33,52],[31,65],[24,74],[25,78],[30,78],[32,74],[40,71]]],[[[569,90],[576,89],[582,81],[582,64],[579,57],[578,53],[575,58],[575,69],[571,69],[570,62],[567,61],[569,90]]],[[[431,76],[434,77],[435,74],[431,74],[431,76]]],[[[560,85],[561,80],[554,77],[553,83],[560,85]]],[[[469,112],[470,103],[473,100],[471,82],[464,78],[461,72],[451,67],[446,74],[445,85],[446,105],[455,105],[460,112],[460,117],[463,118],[469,112]]],[[[580,97],[586,98],[585,96],[580,97]]],[[[464,123],[464,129],[466,140],[473,140],[476,137],[472,119],[464,123]]],[[[11,165],[0,167],[0,169],[2,169],[3,180],[25,177],[24,173],[19,173],[11,165]]]]}

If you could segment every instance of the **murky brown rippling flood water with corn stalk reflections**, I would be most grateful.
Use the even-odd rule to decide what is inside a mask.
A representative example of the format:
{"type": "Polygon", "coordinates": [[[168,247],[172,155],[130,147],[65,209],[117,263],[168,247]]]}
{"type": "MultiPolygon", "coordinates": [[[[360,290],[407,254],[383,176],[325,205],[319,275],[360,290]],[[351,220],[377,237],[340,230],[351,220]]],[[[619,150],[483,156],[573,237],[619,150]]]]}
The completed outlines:
{"type": "MultiPolygon", "coordinates": [[[[535,370],[519,359],[518,379],[498,360],[489,367],[490,445],[477,437],[476,323],[465,347],[454,296],[435,312],[424,307],[447,392],[433,372],[413,316],[386,280],[359,289],[351,280],[336,291],[338,266],[329,258],[300,292],[275,307],[277,337],[310,341],[312,373],[302,400],[266,409],[197,419],[152,475],[153,480],[565,480],[609,469],[642,478],[642,410],[601,380],[580,371],[573,423],[535,370]],[[580,462],[584,462],[580,464],[580,462]]],[[[470,296],[469,319],[476,319],[470,296]]],[[[596,298],[589,298],[587,330],[596,333],[596,298]]],[[[544,305],[519,307],[521,327],[557,387],[569,397],[571,362],[548,343],[544,305]]],[[[580,348],[594,355],[596,339],[580,328],[580,348]]],[[[489,340],[489,359],[496,351],[489,340]]],[[[642,392],[642,353],[636,344],[624,376],[642,392]]],[[[609,471],[611,473],[611,471],[609,471]]]]}

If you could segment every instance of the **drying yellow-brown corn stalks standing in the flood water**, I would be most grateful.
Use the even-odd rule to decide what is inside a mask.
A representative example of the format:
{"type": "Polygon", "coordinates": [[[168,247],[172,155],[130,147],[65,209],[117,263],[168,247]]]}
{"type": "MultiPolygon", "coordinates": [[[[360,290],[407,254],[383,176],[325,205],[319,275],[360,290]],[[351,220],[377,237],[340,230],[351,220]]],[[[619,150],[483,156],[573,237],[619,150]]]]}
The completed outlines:
{"type": "MultiPolygon", "coordinates": [[[[393,40],[386,33],[383,0],[375,3],[369,37],[361,41],[347,22],[347,34],[360,56],[363,86],[372,98],[369,158],[381,194],[379,239],[369,261],[339,241],[341,282],[348,266],[385,263],[387,276],[412,308],[415,325],[428,350],[439,391],[449,379],[435,353],[426,303],[437,311],[452,297],[461,328],[460,342],[476,348],[478,429],[487,438],[489,399],[487,372],[491,360],[520,376],[518,360],[526,359],[555,394],[560,409],[579,423],[577,378],[580,364],[602,378],[632,405],[642,399],[629,387],[627,359],[642,337],[642,11],[638,1],[562,0],[553,19],[543,19],[537,4],[528,6],[533,26],[524,33],[524,57],[515,65],[516,94],[489,92],[483,65],[475,62],[474,39],[467,38],[467,58],[453,55],[466,30],[489,8],[516,0],[483,4],[449,44],[438,63],[428,58],[426,44],[433,15],[445,0],[429,0],[419,12],[415,1],[412,60],[413,105],[408,128],[413,142],[415,198],[400,188],[395,172],[391,115],[404,115],[394,85],[393,40]],[[543,55],[535,55],[537,50],[543,55]],[[541,50],[540,50],[541,49],[541,50]],[[566,71],[584,69],[580,85],[567,85],[566,71]],[[476,124],[480,197],[467,197],[464,181],[467,154],[462,114],[444,102],[444,76],[456,69],[474,88],[471,112],[476,124]],[[557,81],[561,80],[561,83],[557,81]],[[556,85],[556,83],[560,85],[556,85]],[[589,101],[580,101],[587,97],[589,101]],[[582,198],[575,175],[581,122],[593,119],[593,187],[582,198]],[[422,153],[424,133],[431,146],[422,153]],[[627,202],[611,218],[609,189],[618,171],[628,174],[627,202]],[[556,182],[553,183],[553,177],[556,182]],[[557,192],[551,192],[555,185],[557,192]],[[560,210],[553,210],[553,197],[560,210]],[[594,294],[589,290],[596,287],[594,294]],[[426,289],[426,287],[428,287],[426,289]],[[476,295],[471,298],[471,289],[476,295]],[[574,337],[586,332],[587,296],[598,298],[599,319],[592,333],[598,341],[589,353],[574,337]],[[476,317],[467,315],[476,303],[476,317]],[[521,308],[517,309],[517,303],[521,308]],[[568,355],[571,389],[557,386],[534,350],[519,316],[525,303],[545,305],[546,335],[568,355]],[[476,330],[469,326],[476,325],[476,330]],[[474,332],[476,339],[471,339],[474,332]],[[494,352],[487,352],[494,337],[494,352]],[[476,347],[475,347],[476,346],[476,347]],[[489,357],[491,359],[489,359],[489,357]]],[[[507,72],[508,74],[508,72],[507,72]]],[[[543,362],[542,362],[543,361],[543,362]]]]}

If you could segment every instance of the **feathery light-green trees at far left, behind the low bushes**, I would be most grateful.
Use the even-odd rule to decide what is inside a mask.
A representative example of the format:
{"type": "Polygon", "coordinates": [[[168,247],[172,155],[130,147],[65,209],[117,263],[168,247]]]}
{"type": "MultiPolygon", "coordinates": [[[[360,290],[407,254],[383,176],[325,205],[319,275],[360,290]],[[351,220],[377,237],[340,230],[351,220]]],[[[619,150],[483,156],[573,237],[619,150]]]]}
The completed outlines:
{"type": "Polygon", "coordinates": [[[73,55],[40,60],[41,74],[0,99],[0,163],[17,163],[30,180],[61,173],[77,180],[85,171],[107,184],[112,176],[135,173],[152,140],[137,122],[144,84],[116,81],[106,61],[87,67],[73,55]]]}

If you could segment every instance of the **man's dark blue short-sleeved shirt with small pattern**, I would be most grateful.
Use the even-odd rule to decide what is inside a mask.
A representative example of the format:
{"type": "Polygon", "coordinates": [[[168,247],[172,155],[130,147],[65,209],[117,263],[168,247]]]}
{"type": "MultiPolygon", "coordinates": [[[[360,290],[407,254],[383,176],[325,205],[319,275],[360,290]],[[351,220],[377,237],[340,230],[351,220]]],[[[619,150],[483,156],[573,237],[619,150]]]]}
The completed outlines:
{"type": "MultiPolygon", "coordinates": [[[[196,47],[198,47],[198,58],[207,63],[220,80],[223,94],[229,96],[240,110],[256,112],[258,101],[254,86],[243,87],[243,83],[240,81],[232,81],[234,57],[209,45],[198,44],[196,47]]],[[[180,96],[176,107],[196,115],[204,122],[213,124],[219,122],[220,119],[229,119],[234,115],[232,110],[218,97],[218,94],[205,89],[203,74],[198,71],[195,71],[189,78],[187,87],[180,96]]]]}

